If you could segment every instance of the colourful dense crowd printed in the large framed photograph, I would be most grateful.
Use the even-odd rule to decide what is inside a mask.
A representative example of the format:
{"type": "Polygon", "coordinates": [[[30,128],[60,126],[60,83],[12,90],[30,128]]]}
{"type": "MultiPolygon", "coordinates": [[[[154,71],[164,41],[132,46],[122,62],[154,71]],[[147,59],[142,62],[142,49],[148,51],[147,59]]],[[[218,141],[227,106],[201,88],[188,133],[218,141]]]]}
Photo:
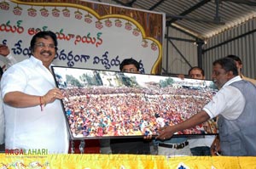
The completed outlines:
{"type": "MultiPolygon", "coordinates": [[[[164,119],[165,125],[177,124],[201,110],[209,101],[211,90],[192,89],[188,93],[183,88],[173,87],[154,87],[154,91],[148,87],[73,87],[63,93],[73,136],[79,138],[143,135],[145,130],[155,135],[160,127],[156,114],[164,119]]],[[[214,127],[208,128],[208,133],[216,133],[211,130],[214,127]]],[[[196,134],[202,131],[201,128],[194,128],[179,133],[196,134]]]]}

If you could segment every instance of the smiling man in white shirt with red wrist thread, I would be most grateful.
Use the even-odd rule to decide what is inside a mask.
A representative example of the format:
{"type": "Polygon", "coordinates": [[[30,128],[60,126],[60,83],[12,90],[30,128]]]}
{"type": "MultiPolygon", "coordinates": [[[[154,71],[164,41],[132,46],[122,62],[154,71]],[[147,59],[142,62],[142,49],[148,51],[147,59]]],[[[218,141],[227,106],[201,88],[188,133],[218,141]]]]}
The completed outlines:
{"type": "Polygon", "coordinates": [[[55,33],[38,32],[30,48],[32,56],[6,70],[1,82],[6,149],[67,153],[63,95],[50,71],[57,50],[55,33]]]}

